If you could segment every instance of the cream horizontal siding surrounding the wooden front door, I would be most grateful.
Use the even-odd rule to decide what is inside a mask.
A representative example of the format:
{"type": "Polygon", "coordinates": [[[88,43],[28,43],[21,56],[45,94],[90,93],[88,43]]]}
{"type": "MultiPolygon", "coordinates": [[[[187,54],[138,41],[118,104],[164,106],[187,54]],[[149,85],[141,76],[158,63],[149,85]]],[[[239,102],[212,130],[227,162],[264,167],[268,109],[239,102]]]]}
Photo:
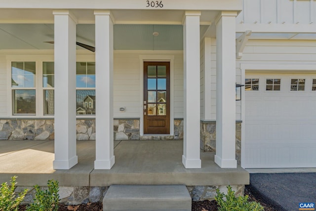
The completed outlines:
{"type": "Polygon", "coordinates": [[[174,56],[174,80],[170,82],[174,87],[174,118],[183,118],[183,52],[126,50],[114,52],[114,117],[139,118],[142,115],[141,55],[174,56]],[[120,107],[125,107],[125,112],[120,112],[120,107]]]}

